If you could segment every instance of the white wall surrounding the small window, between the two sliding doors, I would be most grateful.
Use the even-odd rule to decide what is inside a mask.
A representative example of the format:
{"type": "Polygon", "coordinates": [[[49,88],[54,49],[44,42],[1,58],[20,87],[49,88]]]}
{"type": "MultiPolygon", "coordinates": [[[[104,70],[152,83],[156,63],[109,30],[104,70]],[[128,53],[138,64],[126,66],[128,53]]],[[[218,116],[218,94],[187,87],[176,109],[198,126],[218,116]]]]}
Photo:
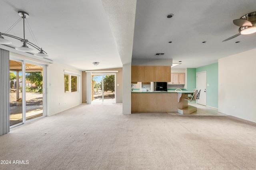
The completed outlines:
{"type": "Polygon", "coordinates": [[[47,75],[47,116],[82,104],[82,72],[80,70],[53,63],[47,66],[47,75]],[[81,74],[78,92],[64,93],[64,70],[81,74]]]}

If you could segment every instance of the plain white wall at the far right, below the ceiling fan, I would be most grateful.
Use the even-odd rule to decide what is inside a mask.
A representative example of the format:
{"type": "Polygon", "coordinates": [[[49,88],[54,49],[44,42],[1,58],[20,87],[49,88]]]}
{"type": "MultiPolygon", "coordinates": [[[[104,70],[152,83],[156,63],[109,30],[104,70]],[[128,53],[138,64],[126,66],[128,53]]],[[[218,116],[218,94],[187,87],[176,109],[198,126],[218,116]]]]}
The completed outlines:
{"type": "Polygon", "coordinates": [[[256,49],[218,60],[218,111],[256,122],[256,49]]]}

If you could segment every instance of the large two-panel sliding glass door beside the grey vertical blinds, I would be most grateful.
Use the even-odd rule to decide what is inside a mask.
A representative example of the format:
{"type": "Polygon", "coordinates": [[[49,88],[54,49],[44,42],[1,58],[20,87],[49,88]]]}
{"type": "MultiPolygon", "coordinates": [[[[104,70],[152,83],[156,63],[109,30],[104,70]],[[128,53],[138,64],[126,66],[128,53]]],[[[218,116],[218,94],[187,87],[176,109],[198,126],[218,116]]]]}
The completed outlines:
{"type": "Polygon", "coordinates": [[[10,127],[44,114],[44,65],[10,60],[10,127]]]}

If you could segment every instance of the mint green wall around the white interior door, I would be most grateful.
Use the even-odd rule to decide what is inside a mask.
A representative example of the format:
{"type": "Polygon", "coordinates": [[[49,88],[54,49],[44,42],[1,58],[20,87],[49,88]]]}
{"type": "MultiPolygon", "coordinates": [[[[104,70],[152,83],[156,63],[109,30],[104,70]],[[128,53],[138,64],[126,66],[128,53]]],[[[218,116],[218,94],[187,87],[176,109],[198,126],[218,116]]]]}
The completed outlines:
{"type": "MultiPolygon", "coordinates": [[[[218,63],[196,68],[196,72],[206,71],[206,105],[218,108],[218,63]]],[[[188,87],[187,87],[188,88],[188,87]]]]}

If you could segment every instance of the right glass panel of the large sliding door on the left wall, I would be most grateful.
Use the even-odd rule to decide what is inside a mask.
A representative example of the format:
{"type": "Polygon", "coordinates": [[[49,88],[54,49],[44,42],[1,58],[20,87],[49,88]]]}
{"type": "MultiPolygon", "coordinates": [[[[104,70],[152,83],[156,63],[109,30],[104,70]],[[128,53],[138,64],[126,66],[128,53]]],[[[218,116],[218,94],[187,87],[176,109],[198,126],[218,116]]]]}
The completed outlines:
{"type": "Polygon", "coordinates": [[[43,116],[43,66],[26,63],[26,121],[43,116]]]}

